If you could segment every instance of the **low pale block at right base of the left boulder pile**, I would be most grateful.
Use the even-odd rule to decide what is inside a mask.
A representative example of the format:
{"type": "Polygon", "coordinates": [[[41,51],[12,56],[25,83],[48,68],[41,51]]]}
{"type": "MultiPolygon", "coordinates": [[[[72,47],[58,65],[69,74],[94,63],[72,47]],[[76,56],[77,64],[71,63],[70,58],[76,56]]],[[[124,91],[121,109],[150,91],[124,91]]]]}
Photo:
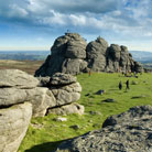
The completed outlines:
{"type": "Polygon", "coordinates": [[[70,113],[77,113],[77,115],[84,115],[85,108],[84,106],[79,104],[70,104],[66,106],[62,106],[58,108],[50,109],[48,113],[56,113],[56,115],[70,115],[70,113]]]}

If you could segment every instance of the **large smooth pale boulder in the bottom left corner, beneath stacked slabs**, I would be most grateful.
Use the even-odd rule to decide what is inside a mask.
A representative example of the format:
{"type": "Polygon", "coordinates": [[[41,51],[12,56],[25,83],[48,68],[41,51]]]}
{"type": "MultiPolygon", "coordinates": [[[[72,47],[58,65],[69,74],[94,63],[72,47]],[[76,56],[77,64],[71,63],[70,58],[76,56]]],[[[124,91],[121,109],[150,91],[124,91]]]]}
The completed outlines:
{"type": "Polygon", "coordinates": [[[32,117],[29,102],[0,109],[0,152],[17,152],[32,117]]]}

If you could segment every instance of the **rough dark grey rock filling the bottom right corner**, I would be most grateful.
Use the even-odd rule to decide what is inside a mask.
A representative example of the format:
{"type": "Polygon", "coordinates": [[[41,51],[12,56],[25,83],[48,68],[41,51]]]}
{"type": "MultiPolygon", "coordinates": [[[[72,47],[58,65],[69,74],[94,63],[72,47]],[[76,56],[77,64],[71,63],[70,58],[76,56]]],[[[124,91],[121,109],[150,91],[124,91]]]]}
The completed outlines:
{"type": "Polygon", "coordinates": [[[152,107],[109,117],[101,130],[63,142],[56,152],[151,152],[152,107]]]}

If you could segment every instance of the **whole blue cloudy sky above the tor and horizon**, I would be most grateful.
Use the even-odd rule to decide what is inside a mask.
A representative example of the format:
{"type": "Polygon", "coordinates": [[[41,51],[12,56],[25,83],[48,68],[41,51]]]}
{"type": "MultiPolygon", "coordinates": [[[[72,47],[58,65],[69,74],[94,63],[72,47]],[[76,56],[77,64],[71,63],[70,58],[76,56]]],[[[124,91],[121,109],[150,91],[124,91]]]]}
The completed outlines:
{"type": "Polygon", "coordinates": [[[152,52],[152,0],[0,0],[0,51],[48,51],[67,31],[152,52]]]}

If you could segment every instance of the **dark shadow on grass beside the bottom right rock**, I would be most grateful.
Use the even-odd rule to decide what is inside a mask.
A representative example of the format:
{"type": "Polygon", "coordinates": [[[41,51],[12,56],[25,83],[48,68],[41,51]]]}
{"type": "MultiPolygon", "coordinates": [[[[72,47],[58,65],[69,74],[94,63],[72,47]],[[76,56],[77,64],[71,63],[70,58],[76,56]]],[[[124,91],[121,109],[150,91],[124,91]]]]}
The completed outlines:
{"type": "Polygon", "coordinates": [[[59,145],[59,143],[62,143],[63,141],[46,142],[43,144],[34,145],[31,149],[25,150],[24,152],[53,152],[54,150],[56,150],[57,145],[59,145]]]}

